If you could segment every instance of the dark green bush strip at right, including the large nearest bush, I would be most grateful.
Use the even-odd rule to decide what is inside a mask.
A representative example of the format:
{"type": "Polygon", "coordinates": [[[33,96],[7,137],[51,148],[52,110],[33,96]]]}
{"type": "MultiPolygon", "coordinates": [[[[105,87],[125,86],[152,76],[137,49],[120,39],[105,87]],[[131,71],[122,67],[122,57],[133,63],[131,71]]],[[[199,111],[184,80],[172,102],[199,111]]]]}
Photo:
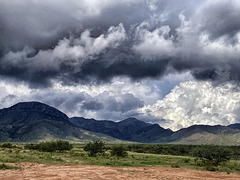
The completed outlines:
{"type": "Polygon", "coordinates": [[[126,145],[128,151],[195,157],[199,166],[207,170],[216,170],[230,158],[240,157],[240,146],[217,145],[173,145],[173,144],[131,144],[126,145]]]}

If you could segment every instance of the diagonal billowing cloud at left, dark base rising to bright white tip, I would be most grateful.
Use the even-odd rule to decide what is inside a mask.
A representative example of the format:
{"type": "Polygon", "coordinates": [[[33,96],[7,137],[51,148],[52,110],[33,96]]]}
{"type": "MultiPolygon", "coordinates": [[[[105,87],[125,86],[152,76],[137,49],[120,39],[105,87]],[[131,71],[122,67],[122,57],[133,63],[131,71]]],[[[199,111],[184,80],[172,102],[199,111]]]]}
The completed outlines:
{"type": "Polygon", "coordinates": [[[90,37],[88,30],[80,38],[64,38],[59,40],[54,49],[40,50],[34,57],[29,57],[33,52],[30,48],[10,51],[0,62],[0,74],[27,80],[33,85],[39,83],[47,86],[51,78],[61,78],[65,73],[78,73],[82,64],[95,59],[107,48],[116,48],[124,39],[124,27],[119,24],[96,38],[90,37]]]}

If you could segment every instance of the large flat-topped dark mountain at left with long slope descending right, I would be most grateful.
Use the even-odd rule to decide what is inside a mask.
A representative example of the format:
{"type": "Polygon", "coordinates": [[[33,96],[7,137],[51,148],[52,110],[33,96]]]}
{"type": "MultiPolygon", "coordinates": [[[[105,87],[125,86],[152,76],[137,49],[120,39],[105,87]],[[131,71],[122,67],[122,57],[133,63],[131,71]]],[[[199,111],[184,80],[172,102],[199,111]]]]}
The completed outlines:
{"type": "Polygon", "coordinates": [[[49,139],[67,139],[85,142],[116,139],[88,132],[69,122],[61,111],[39,102],[21,102],[0,110],[0,141],[33,142],[49,139]]]}

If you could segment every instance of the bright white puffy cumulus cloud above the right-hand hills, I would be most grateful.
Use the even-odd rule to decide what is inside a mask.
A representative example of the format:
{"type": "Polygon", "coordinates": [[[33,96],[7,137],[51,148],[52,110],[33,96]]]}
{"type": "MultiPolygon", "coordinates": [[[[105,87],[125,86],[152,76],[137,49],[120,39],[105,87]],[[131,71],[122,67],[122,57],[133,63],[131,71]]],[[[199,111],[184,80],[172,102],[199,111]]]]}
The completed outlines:
{"type": "Polygon", "coordinates": [[[141,112],[165,119],[162,125],[173,130],[194,124],[239,123],[240,91],[230,83],[215,87],[210,82],[183,82],[141,112]]]}

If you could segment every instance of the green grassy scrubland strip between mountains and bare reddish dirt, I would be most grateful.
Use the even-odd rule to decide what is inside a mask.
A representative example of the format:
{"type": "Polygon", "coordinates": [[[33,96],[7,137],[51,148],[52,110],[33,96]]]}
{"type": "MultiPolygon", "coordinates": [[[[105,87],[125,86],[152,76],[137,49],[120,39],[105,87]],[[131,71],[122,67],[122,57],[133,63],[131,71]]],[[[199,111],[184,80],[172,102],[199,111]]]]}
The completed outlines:
{"type": "MultiPolygon", "coordinates": [[[[39,143],[41,144],[41,143],[39,143]]],[[[35,145],[39,145],[35,144],[35,145]]],[[[186,146],[183,145],[159,145],[159,144],[137,144],[138,150],[141,150],[142,153],[129,151],[128,148],[131,146],[136,147],[136,144],[129,145],[105,145],[102,141],[95,141],[87,143],[85,145],[74,145],[71,150],[68,151],[50,151],[45,152],[39,149],[29,148],[31,145],[26,145],[24,148],[23,145],[13,144],[12,148],[3,148],[0,147],[0,164],[9,165],[8,163],[20,163],[20,162],[32,162],[32,163],[44,163],[44,164],[87,164],[87,165],[100,165],[100,166],[132,166],[132,167],[144,167],[144,166],[170,166],[170,167],[183,167],[183,168],[194,168],[201,170],[211,170],[211,171],[224,171],[228,173],[237,172],[240,173],[240,158],[239,150],[240,147],[219,147],[212,146],[205,152],[205,154],[214,151],[216,148],[216,154],[219,154],[223,149],[229,151],[224,151],[227,154],[227,157],[224,157],[223,160],[220,160],[220,163],[217,165],[208,166],[204,164],[200,157],[194,155],[193,152],[199,154],[201,150],[208,148],[208,146],[186,146]],[[96,145],[96,146],[94,146],[96,145]],[[86,151],[89,147],[93,147],[95,156],[89,156],[90,151],[86,151]],[[95,148],[98,147],[98,148],[95,148]],[[120,148],[119,148],[120,147],[120,148]],[[144,152],[149,148],[154,149],[165,149],[166,154],[152,154],[150,152],[144,152]],[[178,147],[180,147],[178,149],[178,147]],[[87,149],[86,149],[87,148],[87,149]],[[175,154],[185,154],[183,149],[190,149],[188,155],[175,155],[175,154]],[[212,149],[211,149],[212,148],[212,149]],[[223,149],[221,149],[223,148],[223,149]],[[98,149],[96,151],[96,149],[98,149]],[[117,152],[125,152],[128,150],[128,156],[123,156],[119,158],[117,152]],[[115,152],[115,153],[113,153],[115,152]],[[168,153],[168,154],[167,154],[168,153]],[[172,155],[172,154],[174,155],[172,155]],[[113,155],[114,154],[114,155],[113,155]],[[112,156],[113,155],[113,156],[112,156]],[[230,158],[228,160],[228,158],[230,158]]],[[[90,148],[91,149],[91,148],[90,148]]],[[[155,150],[156,150],[155,149],[155,150]]],[[[135,149],[136,150],[136,149],[135,149]]],[[[93,154],[94,154],[93,153],[93,154]]],[[[120,153],[121,154],[121,153],[120,153]]],[[[91,154],[92,155],[92,154],[91,154]]],[[[225,155],[224,155],[225,156],[225,155]]],[[[204,159],[207,159],[208,156],[201,155],[204,159]]],[[[219,160],[217,160],[219,162],[219,160]]],[[[3,167],[5,167],[3,165],[3,167]]]]}

